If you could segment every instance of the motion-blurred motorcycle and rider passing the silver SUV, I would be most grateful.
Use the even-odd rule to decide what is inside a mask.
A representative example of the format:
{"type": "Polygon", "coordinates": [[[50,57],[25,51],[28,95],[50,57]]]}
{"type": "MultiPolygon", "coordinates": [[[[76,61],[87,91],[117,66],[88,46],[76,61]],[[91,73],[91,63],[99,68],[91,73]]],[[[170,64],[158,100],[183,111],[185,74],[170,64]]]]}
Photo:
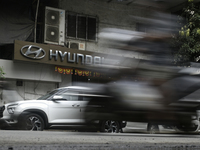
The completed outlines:
{"type": "Polygon", "coordinates": [[[168,43],[171,31],[176,30],[171,27],[178,25],[170,14],[162,14],[155,12],[151,21],[142,19],[148,27],[145,33],[112,28],[100,32],[107,48],[120,57],[111,59],[108,54],[102,65],[93,66],[102,68],[114,81],[99,90],[107,97],[90,99],[86,120],[145,122],[146,130],[158,130],[158,125],[184,132],[197,130],[199,122],[194,123],[194,118],[199,121],[200,101],[185,97],[200,89],[199,76],[180,72],[182,69],[172,63],[168,43]]]}

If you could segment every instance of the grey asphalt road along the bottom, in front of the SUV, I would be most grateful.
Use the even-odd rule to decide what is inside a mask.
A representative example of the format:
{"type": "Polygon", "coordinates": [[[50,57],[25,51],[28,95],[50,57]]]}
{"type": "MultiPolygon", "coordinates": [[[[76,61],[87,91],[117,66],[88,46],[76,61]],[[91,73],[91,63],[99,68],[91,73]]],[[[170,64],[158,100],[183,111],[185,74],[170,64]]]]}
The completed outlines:
{"type": "Polygon", "coordinates": [[[0,130],[0,149],[196,150],[200,135],[0,130]]]}

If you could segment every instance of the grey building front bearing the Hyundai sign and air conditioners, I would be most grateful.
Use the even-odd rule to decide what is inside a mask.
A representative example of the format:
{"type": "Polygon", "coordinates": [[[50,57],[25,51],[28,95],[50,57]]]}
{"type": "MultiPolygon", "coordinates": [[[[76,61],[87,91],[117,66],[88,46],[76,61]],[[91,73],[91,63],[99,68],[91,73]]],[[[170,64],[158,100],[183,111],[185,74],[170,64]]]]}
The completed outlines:
{"type": "MultiPolygon", "coordinates": [[[[183,2],[177,1],[167,11],[183,2]]],[[[148,17],[152,11],[151,5],[143,4],[134,0],[1,2],[0,66],[6,73],[1,79],[1,103],[36,99],[74,82],[106,82],[101,79],[103,73],[88,67],[100,63],[105,54],[113,55],[106,45],[109,41],[98,34],[104,28],[139,30],[141,24],[134,16],[148,17]],[[40,50],[38,55],[36,50],[40,50]],[[45,58],[40,58],[42,50],[45,58]],[[9,97],[8,90],[18,96],[9,97]]],[[[140,57],[123,52],[115,55],[140,57]]]]}

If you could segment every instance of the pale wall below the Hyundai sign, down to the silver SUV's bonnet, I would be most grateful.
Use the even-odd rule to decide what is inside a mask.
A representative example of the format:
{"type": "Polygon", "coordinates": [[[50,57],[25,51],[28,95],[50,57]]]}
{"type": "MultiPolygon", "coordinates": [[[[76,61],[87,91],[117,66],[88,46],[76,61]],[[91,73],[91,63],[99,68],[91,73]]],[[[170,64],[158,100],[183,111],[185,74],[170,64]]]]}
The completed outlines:
{"type": "Polygon", "coordinates": [[[54,71],[53,65],[13,62],[0,59],[5,79],[0,83],[0,104],[17,100],[37,99],[59,87],[71,85],[71,75],[54,71]],[[22,85],[16,85],[17,80],[22,85]]]}

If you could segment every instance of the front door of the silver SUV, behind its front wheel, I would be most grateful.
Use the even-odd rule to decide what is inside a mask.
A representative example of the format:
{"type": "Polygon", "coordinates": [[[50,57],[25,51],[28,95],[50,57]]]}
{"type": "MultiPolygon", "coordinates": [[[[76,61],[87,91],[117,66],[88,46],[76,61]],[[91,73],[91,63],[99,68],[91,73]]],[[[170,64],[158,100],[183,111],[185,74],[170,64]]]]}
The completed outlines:
{"type": "Polygon", "coordinates": [[[81,122],[79,92],[65,90],[49,101],[49,123],[77,124],[81,122]]]}

